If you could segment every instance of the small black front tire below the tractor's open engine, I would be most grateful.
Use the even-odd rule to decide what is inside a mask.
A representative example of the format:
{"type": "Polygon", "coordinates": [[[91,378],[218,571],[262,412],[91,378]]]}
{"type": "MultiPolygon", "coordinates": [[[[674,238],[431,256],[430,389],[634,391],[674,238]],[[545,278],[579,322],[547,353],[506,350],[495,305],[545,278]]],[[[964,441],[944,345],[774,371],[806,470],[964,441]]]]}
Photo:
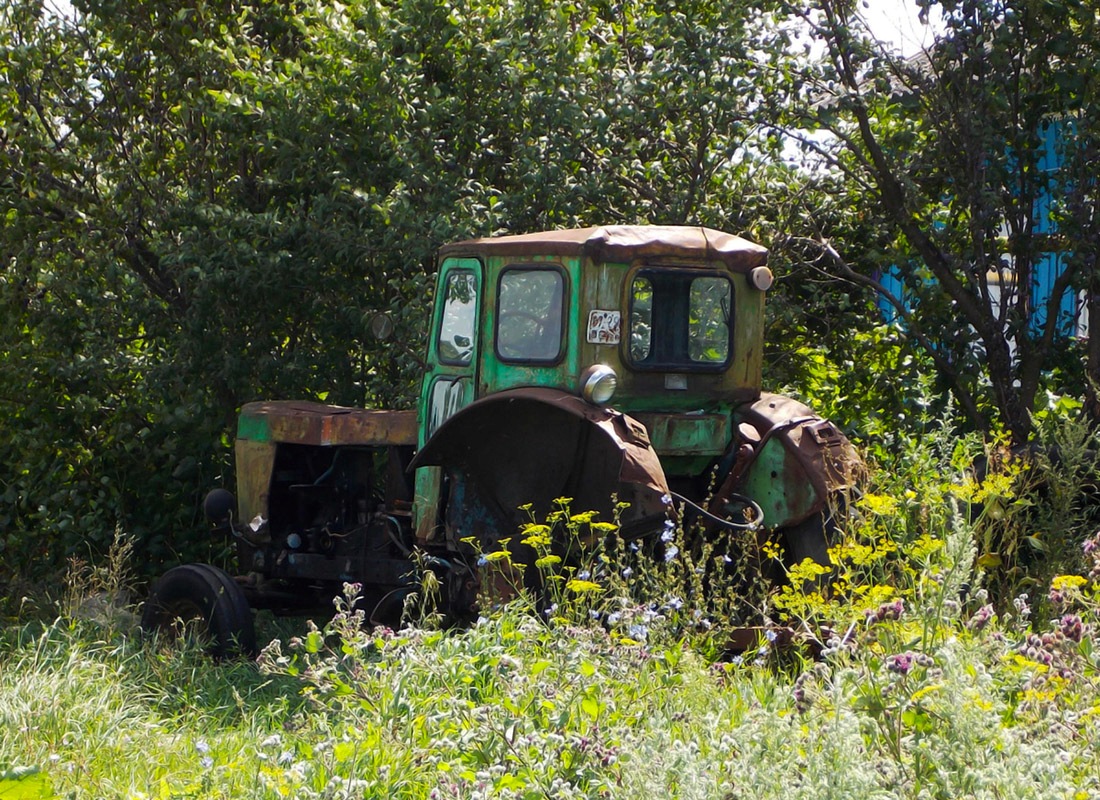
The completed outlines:
{"type": "Polygon", "coordinates": [[[153,584],[142,612],[142,629],[178,636],[180,623],[199,623],[215,658],[257,653],[252,610],[241,588],[224,570],[188,563],[165,572],[153,584]]]}

